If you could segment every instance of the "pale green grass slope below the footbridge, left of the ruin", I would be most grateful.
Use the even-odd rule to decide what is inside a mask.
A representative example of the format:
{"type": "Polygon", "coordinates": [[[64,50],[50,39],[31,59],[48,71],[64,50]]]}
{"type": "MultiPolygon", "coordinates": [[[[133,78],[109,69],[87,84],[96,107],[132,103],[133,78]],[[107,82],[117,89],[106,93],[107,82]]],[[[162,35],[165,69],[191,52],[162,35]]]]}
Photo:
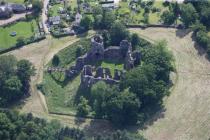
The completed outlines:
{"type": "Polygon", "coordinates": [[[45,73],[42,84],[49,112],[75,115],[74,102],[80,85],[80,76],[63,86],[59,85],[52,75],[45,73]]]}

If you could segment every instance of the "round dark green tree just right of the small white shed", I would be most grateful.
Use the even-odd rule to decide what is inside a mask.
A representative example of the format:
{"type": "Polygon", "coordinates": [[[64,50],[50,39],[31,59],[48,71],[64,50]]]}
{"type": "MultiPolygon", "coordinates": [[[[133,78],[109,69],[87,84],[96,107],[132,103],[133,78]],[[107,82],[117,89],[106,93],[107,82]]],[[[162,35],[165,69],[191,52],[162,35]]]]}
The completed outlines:
{"type": "Polygon", "coordinates": [[[85,28],[85,30],[89,30],[93,27],[93,17],[90,15],[84,16],[80,22],[80,25],[85,28]]]}

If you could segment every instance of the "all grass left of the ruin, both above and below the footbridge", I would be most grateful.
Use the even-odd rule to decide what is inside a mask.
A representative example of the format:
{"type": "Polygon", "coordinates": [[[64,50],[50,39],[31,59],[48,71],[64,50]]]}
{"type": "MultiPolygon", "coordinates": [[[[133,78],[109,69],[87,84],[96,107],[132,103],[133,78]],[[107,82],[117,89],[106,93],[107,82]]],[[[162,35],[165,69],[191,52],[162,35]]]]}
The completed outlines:
{"type": "MultiPolygon", "coordinates": [[[[81,49],[83,55],[90,49],[90,39],[81,39],[67,48],[61,50],[56,55],[59,58],[59,67],[69,67],[77,58],[77,48],[81,49]]],[[[48,66],[53,66],[52,61],[48,66]]],[[[42,82],[42,92],[46,96],[48,109],[53,113],[65,113],[75,115],[77,101],[76,95],[80,86],[80,75],[73,80],[66,80],[64,73],[53,72],[44,73],[42,82]]]]}

